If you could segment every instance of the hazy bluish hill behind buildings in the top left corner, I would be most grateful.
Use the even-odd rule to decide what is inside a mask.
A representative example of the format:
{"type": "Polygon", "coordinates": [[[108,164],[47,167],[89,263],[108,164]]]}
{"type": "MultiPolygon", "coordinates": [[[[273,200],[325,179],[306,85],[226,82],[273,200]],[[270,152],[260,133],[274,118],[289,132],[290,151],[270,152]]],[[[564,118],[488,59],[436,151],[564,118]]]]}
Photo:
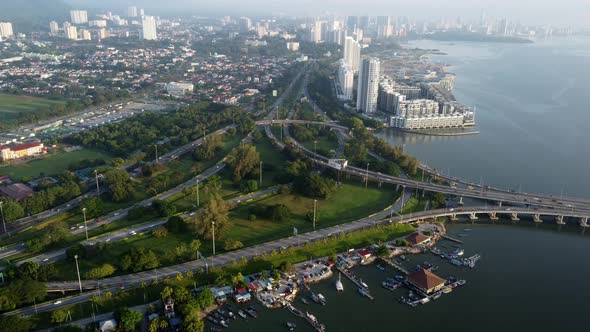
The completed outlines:
{"type": "Polygon", "coordinates": [[[62,0],[0,0],[0,21],[12,22],[15,33],[48,30],[49,21],[69,19],[69,10],[62,0]]]}

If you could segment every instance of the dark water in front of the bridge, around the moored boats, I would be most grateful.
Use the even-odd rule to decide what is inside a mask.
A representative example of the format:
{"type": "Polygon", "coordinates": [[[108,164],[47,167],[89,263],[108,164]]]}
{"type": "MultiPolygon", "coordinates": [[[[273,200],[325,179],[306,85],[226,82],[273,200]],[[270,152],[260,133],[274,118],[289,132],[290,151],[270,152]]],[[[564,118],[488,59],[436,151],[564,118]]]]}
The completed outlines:
{"type": "MultiPolygon", "coordinates": [[[[465,255],[479,253],[482,260],[475,269],[456,267],[425,254],[410,257],[414,266],[424,260],[439,265],[441,277],[464,278],[467,285],[438,300],[415,308],[397,302],[404,289],[394,292],[380,287],[386,277],[395,275],[375,266],[359,267],[354,273],[370,287],[374,301],[361,297],[356,287],[342,279],[344,292],[338,293],[332,280],[312,285],[328,305],[295,301],[309,310],[328,331],[587,331],[588,234],[577,226],[558,230],[557,225],[458,225],[449,233],[471,229],[464,240],[465,255]]],[[[589,230],[590,231],[590,230],[589,230]]],[[[442,241],[449,249],[452,244],[442,241]]],[[[309,297],[308,297],[309,299],[309,297]]],[[[259,306],[260,307],[260,306],[259,306]]],[[[263,310],[258,319],[232,321],[227,331],[286,331],[287,321],[297,331],[313,331],[303,320],[285,309],[263,310]]]]}

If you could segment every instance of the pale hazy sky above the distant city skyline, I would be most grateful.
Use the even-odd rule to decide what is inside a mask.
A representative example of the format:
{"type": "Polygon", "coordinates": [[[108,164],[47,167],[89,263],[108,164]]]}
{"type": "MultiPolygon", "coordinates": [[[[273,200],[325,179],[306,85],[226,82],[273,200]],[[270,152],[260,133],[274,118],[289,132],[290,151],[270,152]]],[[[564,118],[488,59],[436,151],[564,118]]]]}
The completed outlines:
{"type": "MultiPolygon", "coordinates": [[[[590,25],[590,0],[67,0],[203,15],[391,15],[416,19],[506,17],[523,24],[590,25]]],[[[158,13],[154,13],[158,14],[158,13]]]]}

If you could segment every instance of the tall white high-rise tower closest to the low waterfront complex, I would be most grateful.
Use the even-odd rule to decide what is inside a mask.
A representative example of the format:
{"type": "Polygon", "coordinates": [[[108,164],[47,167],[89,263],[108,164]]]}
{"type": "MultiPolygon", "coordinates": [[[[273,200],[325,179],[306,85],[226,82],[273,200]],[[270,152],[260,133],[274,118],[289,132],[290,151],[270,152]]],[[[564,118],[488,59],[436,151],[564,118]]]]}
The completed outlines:
{"type": "Polygon", "coordinates": [[[378,58],[363,57],[359,66],[356,109],[364,113],[374,113],[377,110],[379,97],[378,58]]]}

